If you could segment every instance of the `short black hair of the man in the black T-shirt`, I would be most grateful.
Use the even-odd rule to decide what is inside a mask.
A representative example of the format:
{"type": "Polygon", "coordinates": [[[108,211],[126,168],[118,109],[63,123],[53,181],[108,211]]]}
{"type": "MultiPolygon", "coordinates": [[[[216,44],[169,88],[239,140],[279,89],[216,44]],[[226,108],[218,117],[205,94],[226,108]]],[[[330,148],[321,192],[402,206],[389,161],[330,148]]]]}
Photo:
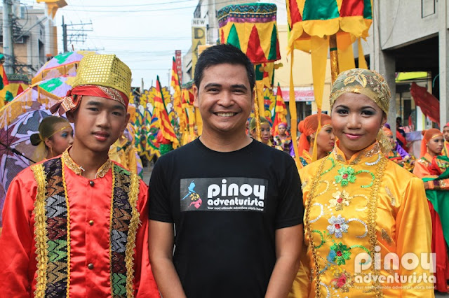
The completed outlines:
{"type": "Polygon", "coordinates": [[[250,59],[234,45],[213,45],[210,48],[204,50],[199,55],[198,62],[195,66],[194,83],[197,88],[203,80],[204,70],[210,66],[218,64],[232,64],[242,65],[246,69],[246,75],[250,83],[250,89],[253,90],[255,85],[255,72],[254,65],[250,62],[250,59]]]}

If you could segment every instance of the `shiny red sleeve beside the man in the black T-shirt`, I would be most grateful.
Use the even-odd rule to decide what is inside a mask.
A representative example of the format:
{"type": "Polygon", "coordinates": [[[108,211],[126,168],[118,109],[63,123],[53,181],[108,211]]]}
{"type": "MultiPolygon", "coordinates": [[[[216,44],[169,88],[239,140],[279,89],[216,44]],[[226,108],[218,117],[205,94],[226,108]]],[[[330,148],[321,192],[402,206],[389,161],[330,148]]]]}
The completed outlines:
{"type": "Polygon", "coordinates": [[[148,187],[140,180],[140,225],[135,239],[135,297],[161,297],[154,281],[148,253],[148,187]]]}

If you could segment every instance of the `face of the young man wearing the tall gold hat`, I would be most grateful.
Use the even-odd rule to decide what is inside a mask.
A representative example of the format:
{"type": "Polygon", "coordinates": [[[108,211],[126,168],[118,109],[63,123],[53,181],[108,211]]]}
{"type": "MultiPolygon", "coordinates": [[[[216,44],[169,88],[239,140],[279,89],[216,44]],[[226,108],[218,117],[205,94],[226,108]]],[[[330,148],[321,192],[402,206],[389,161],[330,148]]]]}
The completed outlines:
{"type": "Polygon", "coordinates": [[[107,154],[125,130],[129,114],[118,101],[83,96],[77,110],[67,118],[75,124],[74,149],[83,147],[107,154]]]}

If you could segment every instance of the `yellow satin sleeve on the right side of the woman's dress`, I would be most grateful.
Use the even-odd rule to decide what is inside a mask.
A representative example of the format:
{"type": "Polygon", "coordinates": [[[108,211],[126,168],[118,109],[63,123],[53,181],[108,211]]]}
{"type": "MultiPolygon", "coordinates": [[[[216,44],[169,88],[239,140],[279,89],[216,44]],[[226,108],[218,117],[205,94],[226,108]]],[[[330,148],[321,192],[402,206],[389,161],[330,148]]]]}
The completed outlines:
{"type": "Polygon", "coordinates": [[[406,283],[401,283],[401,297],[434,297],[434,284],[429,281],[429,277],[433,276],[431,265],[421,261],[422,254],[429,260],[431,238],[431,218],[424,184],[422,180],[413,177],[396,214],[396,249],[401,258],[408,253],[410,256],[417,256],[419,264],[417,267],[400,265],[399,276],[416,275],[416,280],[408,278],[406,283]]]}

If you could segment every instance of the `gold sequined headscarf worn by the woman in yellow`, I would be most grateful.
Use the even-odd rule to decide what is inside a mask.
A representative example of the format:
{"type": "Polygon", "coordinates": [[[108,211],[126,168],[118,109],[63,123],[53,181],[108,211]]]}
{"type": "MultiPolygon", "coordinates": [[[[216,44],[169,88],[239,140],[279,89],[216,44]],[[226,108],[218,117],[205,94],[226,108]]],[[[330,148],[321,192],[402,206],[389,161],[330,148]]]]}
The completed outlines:
{"type": "MultiPolygon", "coordinates": [[[[387,81],[380,73],[369,69],[349,69],[337,76],[330,90],[330,110],[335,101],[344,93],[363,94],[374,101],[379,108],[388,116],[391,92],[387,81]]],[[[382,129],[377,134],[382,152],[391,150],[391,143],[382,129]]]]}

